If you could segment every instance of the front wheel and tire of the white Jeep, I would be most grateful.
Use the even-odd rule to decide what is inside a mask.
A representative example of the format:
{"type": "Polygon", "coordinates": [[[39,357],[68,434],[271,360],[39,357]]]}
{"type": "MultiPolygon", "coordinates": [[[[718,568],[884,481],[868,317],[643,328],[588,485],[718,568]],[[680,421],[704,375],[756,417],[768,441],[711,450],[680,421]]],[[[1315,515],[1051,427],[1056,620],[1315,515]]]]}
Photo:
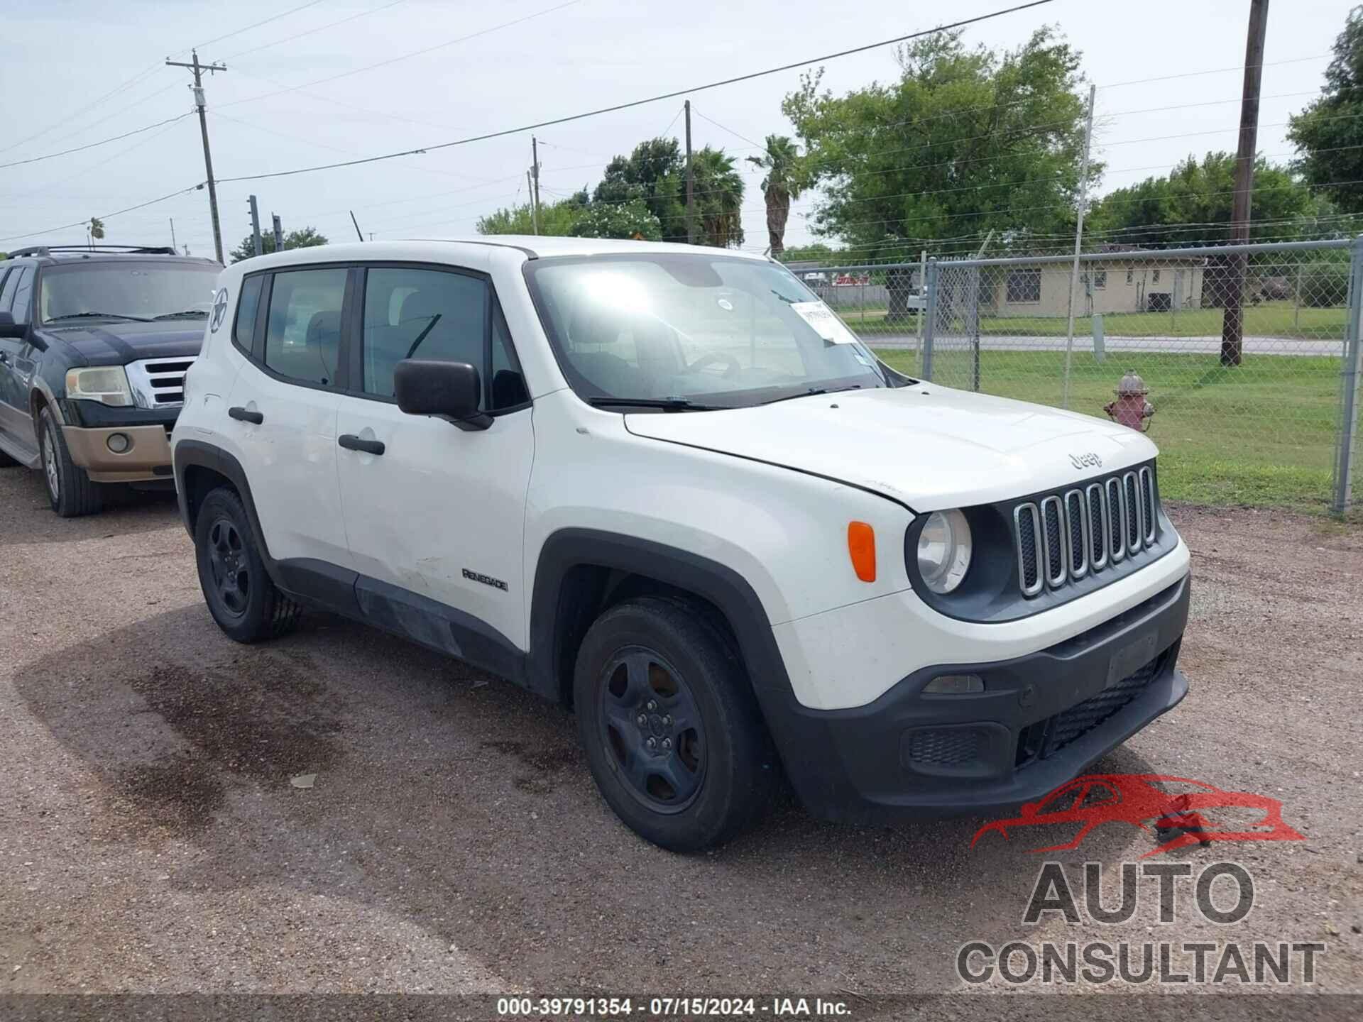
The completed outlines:
{"type": "Polygon", "coordinates": [[[771,739],[740,658],[701,608],[665,597],[612,606],[582,640],[572,695],[601,796],[654,845],[721,845],[770,804],[771,739]]]}

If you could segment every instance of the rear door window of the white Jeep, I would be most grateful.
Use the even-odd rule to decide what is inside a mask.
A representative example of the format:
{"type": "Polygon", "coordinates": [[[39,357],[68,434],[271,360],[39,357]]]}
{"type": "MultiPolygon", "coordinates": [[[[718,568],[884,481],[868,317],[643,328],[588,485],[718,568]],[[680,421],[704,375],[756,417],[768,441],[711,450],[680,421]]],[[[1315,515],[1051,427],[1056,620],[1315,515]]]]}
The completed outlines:
{"type": "Polygon", "coordinates": [[[274,275],[264,331],[267,367],[301,383],[335,382],[346,273],[289,270],[274,275]]]}

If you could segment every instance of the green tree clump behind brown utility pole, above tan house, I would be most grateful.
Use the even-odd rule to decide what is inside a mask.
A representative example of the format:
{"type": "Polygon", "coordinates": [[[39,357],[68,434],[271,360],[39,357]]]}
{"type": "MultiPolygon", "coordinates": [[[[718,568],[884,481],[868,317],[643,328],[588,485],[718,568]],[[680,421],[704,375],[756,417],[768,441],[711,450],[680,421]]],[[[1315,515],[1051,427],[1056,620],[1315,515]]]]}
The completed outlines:
{"type": "MultiPolygon", "coordinates": [[[[1235,191],[1235,155],[1189,157],[1164,177],[1116,188],[1094,203],[1085,230],[1093,238],[1135,245],[1189,245],[1228,241],[1235,191]]],[[[1285,166],[1258,159],[1250,238],[1318,237],[1317,217],[1329,204],[1285,166]]]]}

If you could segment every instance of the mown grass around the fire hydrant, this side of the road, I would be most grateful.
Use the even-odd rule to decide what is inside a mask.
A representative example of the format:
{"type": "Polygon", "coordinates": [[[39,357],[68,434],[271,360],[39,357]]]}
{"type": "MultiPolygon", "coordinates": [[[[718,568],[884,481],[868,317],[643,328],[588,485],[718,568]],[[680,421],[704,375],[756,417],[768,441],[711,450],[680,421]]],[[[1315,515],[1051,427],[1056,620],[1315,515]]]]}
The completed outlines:
{"type": "MultiPolygon", "coordinates": [[[[917,375],[916,352],[883,349],[878,354],[901,372],[917,375]]],[[[1328,510],[1337,358],[1250,356],[1228,369],[1214,354],[1120,352],[1099,364],[1090,353],[1075,353],[1070,407],[1105,420],[1103,405],[1112,401],[1127,368],[1150,388],[1156,414],[1149,436],[1160,447],[1164,496],[1199,504],[1328,510]]],[[[938,383],[969,388],[970,369],[969,352],[938,349],[934,354],[938,383]]],[[[987,394],[1059,407],[1063,375],[1063,352],[980,353],[987,394]]]]}

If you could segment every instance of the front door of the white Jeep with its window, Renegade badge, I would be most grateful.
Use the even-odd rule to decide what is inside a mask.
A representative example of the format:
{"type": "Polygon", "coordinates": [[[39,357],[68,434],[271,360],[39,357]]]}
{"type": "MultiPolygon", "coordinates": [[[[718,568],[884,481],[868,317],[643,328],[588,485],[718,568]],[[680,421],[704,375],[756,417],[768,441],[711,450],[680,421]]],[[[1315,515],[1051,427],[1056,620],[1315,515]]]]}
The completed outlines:
{"type": "MultiPolygon", "coordinates": [[[[338,447],[337,469],[350,564],[457,612],[450,617],[414,601],[416,615],[402,623],[409,631],[418,627],[412,620],[433,612],[436,621],[492,630],[525,650],[522,531],[534,436],[491,282],[474,271],[372,266],[363,271],[357,293],[363,328],[352,341],[350,386],[337,416],[338,440],[349,444],[338,447]],[[403,358],[476,365],[492,425],[463,431],[442,418],[405,414],[393,397],[393,371],[403,358]]],[[[361,605],[364,586],[361,579],[361,605]]],[[[402,598],[390,590],[380,597],[402,598]]]]}

